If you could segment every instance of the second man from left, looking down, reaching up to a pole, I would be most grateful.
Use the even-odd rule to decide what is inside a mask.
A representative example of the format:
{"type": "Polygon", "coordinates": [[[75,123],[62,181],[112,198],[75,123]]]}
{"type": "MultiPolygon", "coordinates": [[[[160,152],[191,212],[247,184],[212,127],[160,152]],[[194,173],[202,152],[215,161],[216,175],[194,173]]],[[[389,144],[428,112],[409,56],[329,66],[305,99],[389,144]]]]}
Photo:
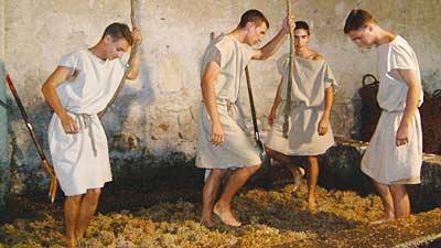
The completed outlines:
{"type": "Polygon", "coordinates": [[[255,50],[251,45],[261,41],[269,23],[260,11],[248,10],[235,30],[222,34],[205,51],[201,69],[203,103],[200,106],[196,166],[211,170],[203,188],[201,218],[207,227],[214,226],[212,213],[226,225],[241,225],[232,214],[230,202],[261,162],[236,105],[240,80],[250,60],[266,60],[280,47],[289,33],[289,22],[286,19],[276,36],[262,48],[255,50]],[[230,168],[237,170],[214,204],[220,180],[230,168]]]}

